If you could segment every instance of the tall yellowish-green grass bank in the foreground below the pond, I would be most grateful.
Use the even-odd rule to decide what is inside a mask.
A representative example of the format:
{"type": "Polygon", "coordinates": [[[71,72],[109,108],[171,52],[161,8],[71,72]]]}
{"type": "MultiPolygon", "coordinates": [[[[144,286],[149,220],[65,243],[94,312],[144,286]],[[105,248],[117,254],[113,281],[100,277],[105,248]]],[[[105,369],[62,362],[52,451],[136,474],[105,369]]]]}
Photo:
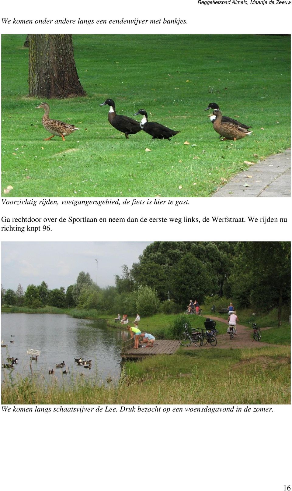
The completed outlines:
{"type": "Polygon", "coordinates": [[[19,380],[2,385],[2,404],[289,404],[288,347],[195,350],[127,362],[118,385],[70,388],[19,380]]]}

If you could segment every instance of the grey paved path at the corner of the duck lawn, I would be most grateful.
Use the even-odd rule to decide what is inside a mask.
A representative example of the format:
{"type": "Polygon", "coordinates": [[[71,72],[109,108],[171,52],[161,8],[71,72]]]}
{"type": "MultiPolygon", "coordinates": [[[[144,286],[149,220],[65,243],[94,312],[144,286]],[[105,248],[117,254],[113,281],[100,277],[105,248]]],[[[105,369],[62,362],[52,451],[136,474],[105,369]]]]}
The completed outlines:
{"type": "Polygon", "coordinates": [[[291,196],[291,149],[271,155],[234,176],[212,198],[287,198],[291,196]]]}

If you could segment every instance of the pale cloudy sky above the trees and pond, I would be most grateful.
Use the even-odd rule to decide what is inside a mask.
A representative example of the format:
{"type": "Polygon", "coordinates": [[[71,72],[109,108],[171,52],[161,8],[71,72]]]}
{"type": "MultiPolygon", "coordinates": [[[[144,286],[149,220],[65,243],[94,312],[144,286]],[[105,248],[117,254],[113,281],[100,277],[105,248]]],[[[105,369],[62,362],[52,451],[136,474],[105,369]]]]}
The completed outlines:
{"type": "Polygon", "coordinates": [[[131,267],[150,242],[2,242],[1,283],[7,290],[24,290],[46,281],[49,289],[65,289],[80,271],[100,287],[115,285],[121,266],[131,267]],[[98,263],[96,263],[96,260],[98,263]]]}

